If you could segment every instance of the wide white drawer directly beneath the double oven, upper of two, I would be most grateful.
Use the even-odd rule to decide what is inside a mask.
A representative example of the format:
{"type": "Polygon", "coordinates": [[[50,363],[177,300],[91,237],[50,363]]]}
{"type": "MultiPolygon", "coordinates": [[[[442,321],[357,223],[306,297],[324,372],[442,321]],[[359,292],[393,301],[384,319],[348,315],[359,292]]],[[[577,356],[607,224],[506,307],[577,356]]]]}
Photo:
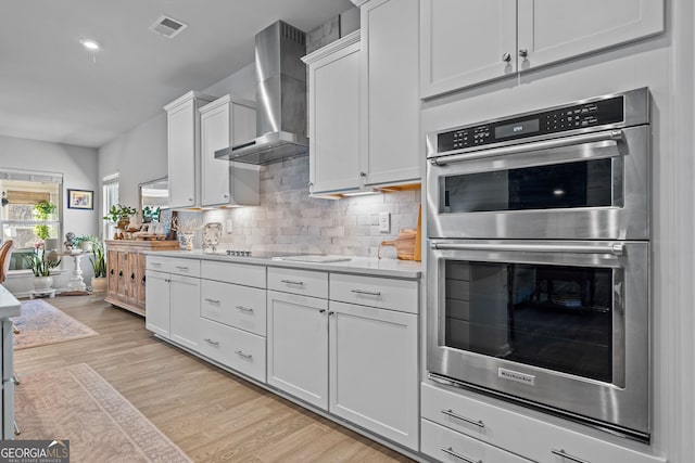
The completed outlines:
{"type": "MultiPolygon", "coordinates": [[[[557,463],[566,452],[591,463],[664,463],[665,460],[546,423],[463,394],[422,384],[422,419],[540,463],[557,463]]],[[[570,459],[567,459],[569,461],[570,459]]]]}

